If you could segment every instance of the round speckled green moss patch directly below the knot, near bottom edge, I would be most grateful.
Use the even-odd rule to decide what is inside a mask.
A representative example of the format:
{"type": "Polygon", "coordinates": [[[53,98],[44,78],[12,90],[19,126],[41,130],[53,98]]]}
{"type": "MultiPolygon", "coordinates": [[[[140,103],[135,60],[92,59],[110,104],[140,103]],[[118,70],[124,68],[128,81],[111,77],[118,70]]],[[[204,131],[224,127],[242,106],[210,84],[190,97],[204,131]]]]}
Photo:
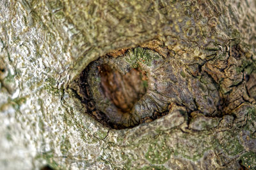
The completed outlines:
{"type": "Polygon", "coordinates": [[[146,159],[152,164],[163,164],[170,159],[171,151],[164,143],[152,143],[145,154],[146,159]]]}

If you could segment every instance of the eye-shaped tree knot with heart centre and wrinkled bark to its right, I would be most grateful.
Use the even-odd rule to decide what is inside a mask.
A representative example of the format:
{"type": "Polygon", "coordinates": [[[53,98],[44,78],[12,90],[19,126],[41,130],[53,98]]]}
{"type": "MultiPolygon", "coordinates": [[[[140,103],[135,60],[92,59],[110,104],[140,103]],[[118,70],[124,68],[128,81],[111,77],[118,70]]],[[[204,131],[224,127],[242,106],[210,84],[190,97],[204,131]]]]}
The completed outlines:
{"type": "Polygon", "coordinates": [[[171,55],[137,47],[89,64],[77,81],[78,94],[90,99],[84,102],[92,105],[88,113],[117,129],[155,120],[166,115],[172,104],[185,106],[189,113],[220,116],[223,103],[218,87],[206,73],[198,80],[186,67],[171,55]],[[81,93],[85,89],[88,97],[81,93]]]}

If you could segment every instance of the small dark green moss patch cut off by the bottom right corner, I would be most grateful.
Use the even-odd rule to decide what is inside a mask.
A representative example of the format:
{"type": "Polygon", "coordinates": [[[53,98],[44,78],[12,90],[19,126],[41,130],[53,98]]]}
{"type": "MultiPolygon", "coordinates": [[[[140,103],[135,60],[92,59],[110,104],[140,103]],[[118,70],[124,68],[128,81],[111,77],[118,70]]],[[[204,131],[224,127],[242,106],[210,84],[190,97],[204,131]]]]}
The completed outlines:
{"type": "Polygon", "coordinates": [[[256,153],[246,152],[241,156],[243,166],[248,169],[256,169],[256,153]]]}

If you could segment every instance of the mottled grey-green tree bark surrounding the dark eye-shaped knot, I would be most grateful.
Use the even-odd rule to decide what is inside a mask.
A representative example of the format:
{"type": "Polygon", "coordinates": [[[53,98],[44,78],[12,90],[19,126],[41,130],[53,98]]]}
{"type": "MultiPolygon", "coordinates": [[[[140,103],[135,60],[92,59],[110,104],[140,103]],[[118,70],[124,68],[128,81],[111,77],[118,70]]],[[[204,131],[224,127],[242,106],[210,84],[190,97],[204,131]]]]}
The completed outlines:
{"type": "Polygon", "coordinates": [[[0,169],[256,169],[256,1],[1,0],[0,11],[0,169]],[[138,48],[162,57],[148,88],[168,114],[111,129],[72,85],[93,60],[138,48]]]}

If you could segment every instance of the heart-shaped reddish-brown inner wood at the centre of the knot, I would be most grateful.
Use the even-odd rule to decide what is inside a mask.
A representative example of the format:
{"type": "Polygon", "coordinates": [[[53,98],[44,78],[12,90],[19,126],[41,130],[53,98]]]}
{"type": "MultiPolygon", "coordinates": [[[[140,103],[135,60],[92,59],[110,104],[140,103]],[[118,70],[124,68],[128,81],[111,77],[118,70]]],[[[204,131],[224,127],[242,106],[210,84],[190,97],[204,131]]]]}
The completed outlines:
{"type": "Polygon", "coordinates": [[[131,69],[128,73],[122,74],[108,64],[102,64],[98,68],[104,95],[119,111],[131,111],[134,104],[147,91],[146,74],[140,69],[131,69]]]}

